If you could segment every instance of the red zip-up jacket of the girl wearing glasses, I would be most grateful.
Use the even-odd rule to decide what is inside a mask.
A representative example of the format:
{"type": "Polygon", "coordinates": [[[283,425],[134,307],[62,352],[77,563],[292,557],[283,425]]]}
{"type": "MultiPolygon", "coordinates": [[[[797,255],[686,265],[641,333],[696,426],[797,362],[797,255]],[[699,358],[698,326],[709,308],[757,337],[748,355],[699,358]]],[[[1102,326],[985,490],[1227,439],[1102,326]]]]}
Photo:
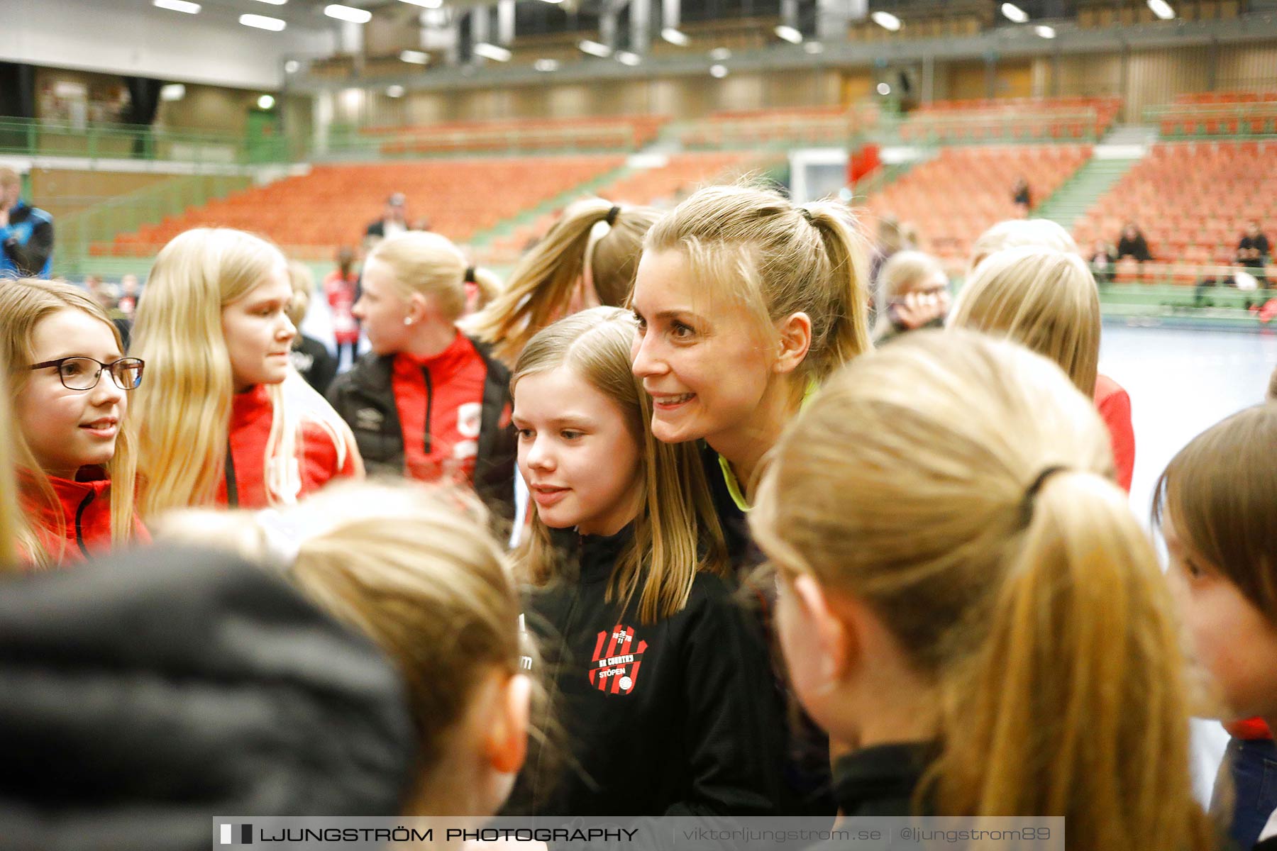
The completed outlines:
{"type": "MultiPolygon", "coordinates": [[[[19,473],[22,509],[45,551],[63,563],[82,561],[111,547],[111,480],[101,467],[83,467],[75,481],[49,476],[57,505],[49,505],[36,478],[19,473]],[[63,537],[57,537],[61,517],[63,537]],[[59,556],[59,552],[61,554],[59,556]]],[[[151,533],[134,519],[133,540],[148,544],[151,533]]]]}

